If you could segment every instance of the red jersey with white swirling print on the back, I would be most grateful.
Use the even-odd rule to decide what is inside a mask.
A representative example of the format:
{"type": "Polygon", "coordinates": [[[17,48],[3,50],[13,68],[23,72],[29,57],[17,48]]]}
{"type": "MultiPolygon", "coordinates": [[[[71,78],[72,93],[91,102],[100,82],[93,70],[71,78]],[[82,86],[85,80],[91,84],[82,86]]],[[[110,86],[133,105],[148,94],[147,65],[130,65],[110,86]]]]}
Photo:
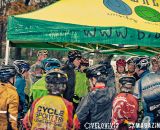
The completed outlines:
{"type": "Polygon", "coordinates": [[[129,93],[119,93],[113,101],[112,123],[123,124],[125,121],[137,121],[138,101],[129,93]]]}

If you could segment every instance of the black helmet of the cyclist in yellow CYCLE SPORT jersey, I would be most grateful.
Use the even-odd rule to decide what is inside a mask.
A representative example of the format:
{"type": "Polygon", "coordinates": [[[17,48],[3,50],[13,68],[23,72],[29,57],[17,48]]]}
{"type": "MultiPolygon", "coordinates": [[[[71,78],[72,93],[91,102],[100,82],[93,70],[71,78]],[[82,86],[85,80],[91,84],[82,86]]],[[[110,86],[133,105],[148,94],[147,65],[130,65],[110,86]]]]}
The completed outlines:
{"type": "Polygon", "coordinates": [[[67,75],[63,71],[52,71],[46,75],[47,84],[66,84],[67,75]]]}

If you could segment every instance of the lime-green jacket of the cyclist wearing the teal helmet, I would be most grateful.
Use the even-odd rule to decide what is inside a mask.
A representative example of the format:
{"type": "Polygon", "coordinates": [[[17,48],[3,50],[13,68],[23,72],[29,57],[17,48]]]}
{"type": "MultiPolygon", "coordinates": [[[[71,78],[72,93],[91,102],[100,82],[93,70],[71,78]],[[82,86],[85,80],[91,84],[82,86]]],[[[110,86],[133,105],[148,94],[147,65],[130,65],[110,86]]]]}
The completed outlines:
{"type": "Polygon", "coordinates": [[[41,79],[39,79],[37,82],[35,82],[35,84],[33,84],[33,86],[31,87],[31,95],[32,98],[33,98],[33,101],[38,99],[38,98],[41,98],[43,96],[46,96],[48,95],[48,90],[46,88],[46,82],[45,82],[45,77],[46,77],[46,74],[44,74],[42,76],[41,79]]]}

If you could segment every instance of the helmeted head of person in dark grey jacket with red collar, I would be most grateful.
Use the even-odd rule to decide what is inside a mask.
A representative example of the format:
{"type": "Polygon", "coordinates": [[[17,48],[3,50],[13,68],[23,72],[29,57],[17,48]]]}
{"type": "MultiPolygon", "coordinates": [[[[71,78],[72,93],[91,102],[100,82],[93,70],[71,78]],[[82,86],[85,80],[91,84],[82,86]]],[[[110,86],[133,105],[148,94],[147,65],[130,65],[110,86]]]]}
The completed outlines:
{"type": "Polygon", "coordinates": [[[103,64],[94,65],[88,67],[86,70],[86,77],[90,81],[91,88],[94,88],[97,84],[104,85],[107,82],[107,68],[103,64]]]}

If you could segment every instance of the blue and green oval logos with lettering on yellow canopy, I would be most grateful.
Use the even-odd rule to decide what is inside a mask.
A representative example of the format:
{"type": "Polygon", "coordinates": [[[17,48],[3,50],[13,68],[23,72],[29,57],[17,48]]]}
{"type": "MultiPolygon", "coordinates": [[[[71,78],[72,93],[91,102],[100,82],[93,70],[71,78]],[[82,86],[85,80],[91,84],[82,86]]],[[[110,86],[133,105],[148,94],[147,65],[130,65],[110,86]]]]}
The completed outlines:
{"type": "MultiPolygon", "coordinates": [[[[131,0],[132,2],[139,2],[138,0],[131,0]]],[[[153,6],[159,6],[158,3],[152,1],[153,6]]],[[[111,11],[121,15],[131,15],[132,9],[128,4],[122,0],[103,0],[104,5],[111,11]]],[[[143,1],[143,4],[150,5],[148,0],[143,1]]],[[[144,20],[150,22],[160,22],[160,12],[148,6],[136,6],[135,13],[144,20]]]]}

